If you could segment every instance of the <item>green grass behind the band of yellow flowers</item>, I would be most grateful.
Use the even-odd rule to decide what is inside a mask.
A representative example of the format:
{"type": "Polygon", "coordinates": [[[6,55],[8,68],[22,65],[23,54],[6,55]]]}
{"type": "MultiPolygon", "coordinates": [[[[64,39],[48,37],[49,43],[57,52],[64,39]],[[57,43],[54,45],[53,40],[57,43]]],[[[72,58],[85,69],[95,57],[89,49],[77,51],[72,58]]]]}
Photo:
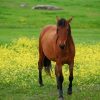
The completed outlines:
{"type": "Polygon", "coordinates": [[[76,43],[80,40],[84,42],[84,36],[90,42],[96,41],[96,39],[98,41],[98,37],[100,37],[99,4],[99,0],[0,0],[0,43],[11,42],[12,39],[23,35],[38,38],[45,25],[56,24],[56,16],[67,19],[71,16],[74,17],[71,26],[76,43]],[[28,6],[21,8],[22,2],[27,3],[28,6]],[[32,6],[36,4],[52,4],[62,7],[64,10],[32,10],[32,6]],[[94,39],[89,37],[91,34],[95,37],[94,39]]]}

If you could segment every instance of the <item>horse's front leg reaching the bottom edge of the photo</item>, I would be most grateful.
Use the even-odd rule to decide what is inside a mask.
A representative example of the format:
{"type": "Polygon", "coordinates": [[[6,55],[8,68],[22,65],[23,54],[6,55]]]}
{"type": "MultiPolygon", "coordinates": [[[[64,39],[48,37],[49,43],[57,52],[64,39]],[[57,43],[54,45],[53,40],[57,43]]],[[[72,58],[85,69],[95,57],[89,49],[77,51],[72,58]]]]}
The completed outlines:
{"type": "Polygon", "coordinates": [[[63,74],[62,74],[62,64],[56,63],[55,75],[56,75],[56,80],[57,80],[57,88],[59,90],[59,99],[60,100],[63,100],[63,88],[62,88],[63,74]]]}

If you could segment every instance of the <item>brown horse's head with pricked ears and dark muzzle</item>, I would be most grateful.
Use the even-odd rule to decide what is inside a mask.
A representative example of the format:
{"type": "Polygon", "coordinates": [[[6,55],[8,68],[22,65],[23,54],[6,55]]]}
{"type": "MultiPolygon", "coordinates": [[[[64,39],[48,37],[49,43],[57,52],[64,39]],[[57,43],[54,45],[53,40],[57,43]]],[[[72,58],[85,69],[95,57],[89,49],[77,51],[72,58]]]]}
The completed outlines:
{"type": "Polygon", "coordinates": [[[69,20],[65,20],[63,18],[59,19],[57,17],[57,44],[61,49],[64,49],[67,45],[68,36],[71,34],[70,22],[72,18],[69,20]]]}

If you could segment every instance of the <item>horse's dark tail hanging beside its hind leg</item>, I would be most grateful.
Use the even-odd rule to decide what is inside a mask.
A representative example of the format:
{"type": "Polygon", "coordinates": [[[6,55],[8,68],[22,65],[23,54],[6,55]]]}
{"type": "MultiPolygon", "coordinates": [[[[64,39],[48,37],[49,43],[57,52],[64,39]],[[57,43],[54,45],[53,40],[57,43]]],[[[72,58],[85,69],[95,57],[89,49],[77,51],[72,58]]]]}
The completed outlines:
{"type": "Polygon", "coordinates": [[[51,76],[51,61],[45,56],[44,57],[44,61],[43,61],[43,64],[44,64],[44,68],[45,68],[45,72],[51,76]]]}

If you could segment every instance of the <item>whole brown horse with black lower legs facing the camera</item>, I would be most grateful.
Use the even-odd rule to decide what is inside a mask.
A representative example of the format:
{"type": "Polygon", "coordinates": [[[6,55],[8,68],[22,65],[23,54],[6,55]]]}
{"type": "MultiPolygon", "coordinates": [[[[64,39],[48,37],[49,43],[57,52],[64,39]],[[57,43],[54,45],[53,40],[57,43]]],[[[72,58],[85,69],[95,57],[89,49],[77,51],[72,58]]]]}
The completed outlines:
{"type": "Polygon", "coordinates": [[[42,69],[50,72],[51,61],[56,62],[55,75],[57,79],[57,88],[59,90],[59,98],[63,99],[63,73],[62,66],[69,65],[69,87],[68,94],[72,94],[73,66],[75,56],[75,46],[71,35],[71,27],[69,20],[57,17],[57,25],[46,26],[40,34],[39,38],[39,84],[43,86],[42,69]]]}

